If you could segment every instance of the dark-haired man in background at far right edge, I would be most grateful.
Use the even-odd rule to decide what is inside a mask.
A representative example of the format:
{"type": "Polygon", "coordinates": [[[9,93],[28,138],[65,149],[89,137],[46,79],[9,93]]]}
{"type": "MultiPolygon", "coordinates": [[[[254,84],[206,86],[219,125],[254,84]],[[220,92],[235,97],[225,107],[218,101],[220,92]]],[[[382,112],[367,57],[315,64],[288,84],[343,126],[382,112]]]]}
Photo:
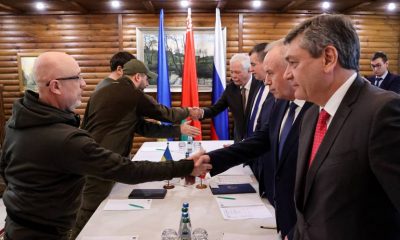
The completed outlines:
{"type": "Polygon", "coordinates": [[[367,78],[371,84],[395,93],[400,93],[400,76],[388,70],[389,60],[384,52],[376,52],[371,59],[374,76],[367,78]]]}

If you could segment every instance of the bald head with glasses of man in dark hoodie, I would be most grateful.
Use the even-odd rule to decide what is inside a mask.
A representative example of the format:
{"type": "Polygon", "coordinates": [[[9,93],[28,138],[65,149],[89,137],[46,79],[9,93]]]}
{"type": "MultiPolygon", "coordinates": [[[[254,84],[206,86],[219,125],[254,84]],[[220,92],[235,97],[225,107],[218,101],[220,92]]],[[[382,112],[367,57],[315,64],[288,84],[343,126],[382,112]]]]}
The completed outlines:
{"type": "Polygon", "coordinates": [[[86,83],[73,57],[62,52],[42,53],[35,61],[33,74],[41,102],[70,111],[81,104],[86,83]]]}

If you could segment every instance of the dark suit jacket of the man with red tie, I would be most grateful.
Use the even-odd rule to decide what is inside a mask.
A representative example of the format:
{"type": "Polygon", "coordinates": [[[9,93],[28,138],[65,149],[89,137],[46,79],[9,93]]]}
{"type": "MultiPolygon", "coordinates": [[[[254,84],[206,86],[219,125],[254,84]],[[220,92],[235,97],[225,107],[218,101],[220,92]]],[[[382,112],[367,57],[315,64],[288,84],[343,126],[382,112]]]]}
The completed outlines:
{"type": "Polygon", "coordinates": [[[301,126],[295,239],[400,239],[400,97],[358,77],[308,169],[318,113],[301,126]]]}

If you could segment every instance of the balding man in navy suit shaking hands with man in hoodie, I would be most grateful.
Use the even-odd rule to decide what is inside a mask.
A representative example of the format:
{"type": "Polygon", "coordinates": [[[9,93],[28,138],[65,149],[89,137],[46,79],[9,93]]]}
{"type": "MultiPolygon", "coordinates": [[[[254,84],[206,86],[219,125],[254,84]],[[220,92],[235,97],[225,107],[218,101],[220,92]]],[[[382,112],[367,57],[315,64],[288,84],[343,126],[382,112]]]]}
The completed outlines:
{"type": "Polygon", "coordinates": [[[212,175],[247,162],[256,156],[269,152],[273,157],[275,193],[274,204],[277,229],[284,236],[291,236],[296,222],[294,206],[294,183],[297,160],[300,122],[310,107],[310,103],[294,99],[294,89],[283,77],[287,63],[283,56],[283,41],[271,43],[264,60],[266,81],[277,100],[269,124],[264,124],[250,138],[228,148],[203,155],[204,160],[211,160],[212,175]]]}

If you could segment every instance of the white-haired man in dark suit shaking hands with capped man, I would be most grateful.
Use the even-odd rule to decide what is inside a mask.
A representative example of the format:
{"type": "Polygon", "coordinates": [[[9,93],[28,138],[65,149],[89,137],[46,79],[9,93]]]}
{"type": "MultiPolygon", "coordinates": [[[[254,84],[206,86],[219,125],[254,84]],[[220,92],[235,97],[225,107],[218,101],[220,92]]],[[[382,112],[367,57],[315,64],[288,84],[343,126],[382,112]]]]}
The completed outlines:
{"type": "Polygon", "coordinates": [[[234,140],[241,141],[246,136],[254,97],[262,85],[250,72],[250,58],[246,54],[235,54],[229,62],[231,82],[226,86],[221,98],[214,105],[203,108],[203,118],[211,118],[229,107],[234,124],[234,140]]]}

